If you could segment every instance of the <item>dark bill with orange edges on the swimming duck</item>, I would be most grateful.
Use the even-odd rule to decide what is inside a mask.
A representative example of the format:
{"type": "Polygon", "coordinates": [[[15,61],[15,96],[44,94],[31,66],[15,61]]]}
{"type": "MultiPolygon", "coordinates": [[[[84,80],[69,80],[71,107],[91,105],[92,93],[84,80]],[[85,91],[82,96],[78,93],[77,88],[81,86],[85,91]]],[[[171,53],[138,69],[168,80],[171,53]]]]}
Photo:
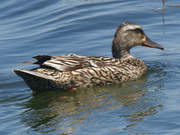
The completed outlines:
{"type": "Polygon", "coordinates": [[[158,48],[163,50],[164,47],[162,47],[161,45],[157,44],[156,42],[152,41],[151,39],[149,39],[148,37],[146,38],[146,41],[142,42],[142,46],[146,46],[146,47],[152,47],[152,48],[158,48]]]}

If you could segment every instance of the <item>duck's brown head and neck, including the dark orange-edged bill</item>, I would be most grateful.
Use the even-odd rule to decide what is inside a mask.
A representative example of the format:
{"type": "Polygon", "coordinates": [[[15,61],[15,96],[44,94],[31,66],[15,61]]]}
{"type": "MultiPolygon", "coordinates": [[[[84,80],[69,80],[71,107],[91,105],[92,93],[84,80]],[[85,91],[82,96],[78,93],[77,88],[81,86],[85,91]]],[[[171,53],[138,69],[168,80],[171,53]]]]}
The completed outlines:
{"type": "Polygon", "coordinates": [[[118,26],[112,41],[113,57],[121,59],[132,57],[130,49],[138,45],[164,49],[161,45],[150,40],[139,25],[124,22],[118,26]]]}

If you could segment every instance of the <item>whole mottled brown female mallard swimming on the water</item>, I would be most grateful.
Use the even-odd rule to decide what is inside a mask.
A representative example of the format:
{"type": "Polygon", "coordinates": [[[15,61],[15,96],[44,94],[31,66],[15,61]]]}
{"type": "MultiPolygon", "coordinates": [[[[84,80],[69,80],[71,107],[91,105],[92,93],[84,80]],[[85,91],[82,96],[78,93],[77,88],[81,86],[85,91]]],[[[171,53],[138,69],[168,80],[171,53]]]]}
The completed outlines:
{"type": "Polygon", "coordinates": [[[36,62],[22,64],[39,64],[39,68],[13,71],[35,91],[70,90],[135,80],[147,68],[143,61],[130,55],[130,49],[137,45],[164,49],[151,41],[139,25],[124,22],[117,28],[112,41],[113,58],[76,54],[38,55],[33,57],[36,62]]]}

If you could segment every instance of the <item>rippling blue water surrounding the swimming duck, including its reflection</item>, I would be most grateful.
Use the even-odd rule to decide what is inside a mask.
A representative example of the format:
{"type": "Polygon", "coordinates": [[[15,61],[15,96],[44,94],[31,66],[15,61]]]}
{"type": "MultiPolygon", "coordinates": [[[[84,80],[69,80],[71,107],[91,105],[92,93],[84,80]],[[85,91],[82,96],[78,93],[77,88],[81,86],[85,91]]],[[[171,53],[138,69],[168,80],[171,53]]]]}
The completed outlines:
{"type": "Polygon", "coordinates": [[[179,0],[0,1],[0,134],[180,134],[179,0]],[[136,47],[139,79],[75,92],[33,93],[13,68],[39,54],[111,57],[122,22],[164,51],[136,47]]]}

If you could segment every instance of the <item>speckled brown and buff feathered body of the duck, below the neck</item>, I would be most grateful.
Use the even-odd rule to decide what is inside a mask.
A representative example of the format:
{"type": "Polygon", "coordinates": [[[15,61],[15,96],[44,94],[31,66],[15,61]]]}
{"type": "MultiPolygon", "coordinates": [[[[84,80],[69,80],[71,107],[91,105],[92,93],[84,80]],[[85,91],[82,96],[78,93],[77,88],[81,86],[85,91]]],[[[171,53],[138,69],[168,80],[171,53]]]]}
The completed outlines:
{"type": "Polygon", "coordinates": [[[16,71],[16,73],[31,89],[44,91],[70,90],[135,80],[144,73],[146,68],[143,61],[133,57],[120,60],[71,54],[52,57],[40,68],[31,71],[24,70],[24,72],[21,70],[19,73],[16,71]],[[53,68],[48,68],[48,66],[53,68]]]}

